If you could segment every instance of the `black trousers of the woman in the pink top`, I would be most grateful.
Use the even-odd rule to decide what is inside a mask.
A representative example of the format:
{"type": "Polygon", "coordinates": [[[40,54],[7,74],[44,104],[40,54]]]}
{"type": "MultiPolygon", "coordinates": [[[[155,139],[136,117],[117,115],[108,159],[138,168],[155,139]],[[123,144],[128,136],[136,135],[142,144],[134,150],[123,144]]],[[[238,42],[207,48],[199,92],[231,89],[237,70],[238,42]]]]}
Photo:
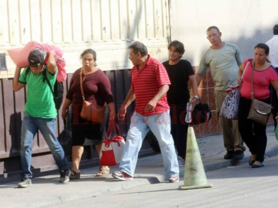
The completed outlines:
{"type": "MultiPolygon", "coordinates": [[[[270,104],[270,98],[261,101],[270,104]]],[[[251,102],[251,99],[244,97],[240,98],[238,109],[238,128],[242,140],[249,148],[249,151],[256,155],[256,161],[263,162],[267,146],[266,126],[247,119],[251,102]]]]}

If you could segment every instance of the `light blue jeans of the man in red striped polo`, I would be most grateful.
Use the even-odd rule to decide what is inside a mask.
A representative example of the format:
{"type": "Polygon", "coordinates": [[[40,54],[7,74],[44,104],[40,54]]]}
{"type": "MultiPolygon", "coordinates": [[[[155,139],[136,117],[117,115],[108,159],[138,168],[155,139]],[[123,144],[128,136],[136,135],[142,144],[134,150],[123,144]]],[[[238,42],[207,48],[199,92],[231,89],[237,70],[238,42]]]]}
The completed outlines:
{"type": "Polygon", "coordinates": [[[170,133],[170,123],[169,110],[150,116],[134,112],[120,162],[120,171],[133,177],[139,150],[146,134],[151,129],[160,146],[166,176],[178,176],[179,168],[173,137],[170,133]]]}

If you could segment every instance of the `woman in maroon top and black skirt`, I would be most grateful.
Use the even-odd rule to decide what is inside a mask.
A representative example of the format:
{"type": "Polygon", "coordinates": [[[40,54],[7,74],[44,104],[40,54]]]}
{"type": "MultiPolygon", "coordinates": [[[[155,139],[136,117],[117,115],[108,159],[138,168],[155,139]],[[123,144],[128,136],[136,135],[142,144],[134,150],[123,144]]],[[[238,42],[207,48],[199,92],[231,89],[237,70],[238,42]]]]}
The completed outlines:
{"type": "MultiPolygon", "coordinates": [[[[99,155],[104,133],[104,124],[94,123],[80,118],[83,99],[80,90],[79,73],[83,71],[83,91],[85,100],[109,108],[109,119],[115,118],[115,107],[110,89],[110,81],[103,71],[96,67],[96,52],[87,49],[81,54],[82,67],[77,69],[70,82],[66,100],[62,108],[62,118],[66,118],[66,109],[72,104],[73,116],[71,118],[72,130],[72,168],[71,179],[79,179],[79,164],[83,153],[85,138],[90,139],[96,146],[99,155]]],[[[101,166],[96,176],[105,176],[109,173],[109,167],[101,166]]]]}

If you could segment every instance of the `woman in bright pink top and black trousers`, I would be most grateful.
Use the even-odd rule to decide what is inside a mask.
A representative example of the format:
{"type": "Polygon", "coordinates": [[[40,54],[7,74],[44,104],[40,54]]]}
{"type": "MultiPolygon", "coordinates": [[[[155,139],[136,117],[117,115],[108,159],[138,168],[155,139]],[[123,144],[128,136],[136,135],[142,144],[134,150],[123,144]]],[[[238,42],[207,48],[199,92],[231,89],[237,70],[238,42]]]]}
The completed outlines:
{"type": "Polygon", "coordinates": [[[267,145],[266,126],[247,119],[251,106],[251,72],[254,65],[254,98],[270,104],[271,90],[278,95],[278,75],[267,60],[269,47],[264,43],[255,46],[254,59],[246,59],[238,71],[237,83],[241,85],[238,127],[242,140],[248,146],[252,168],[263,167],[264,153],[267,145]],[[274,89],[273,89],[273,88],[274,89]]]}

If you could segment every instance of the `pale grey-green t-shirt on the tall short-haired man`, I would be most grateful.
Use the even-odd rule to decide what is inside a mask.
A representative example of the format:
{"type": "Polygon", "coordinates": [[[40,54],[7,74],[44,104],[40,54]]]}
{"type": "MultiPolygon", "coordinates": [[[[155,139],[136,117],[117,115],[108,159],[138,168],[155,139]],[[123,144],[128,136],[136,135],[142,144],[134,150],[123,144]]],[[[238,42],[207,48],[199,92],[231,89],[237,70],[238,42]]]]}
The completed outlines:
{"type": "Polygon", "coordinates": [[[242,64],[239,48],[225,43],[220,49],[209,48],[203,54],[196,74],[204,74],[210,67],[215,90],[225,91],[237,86],[237,72],[242,64]]]}

